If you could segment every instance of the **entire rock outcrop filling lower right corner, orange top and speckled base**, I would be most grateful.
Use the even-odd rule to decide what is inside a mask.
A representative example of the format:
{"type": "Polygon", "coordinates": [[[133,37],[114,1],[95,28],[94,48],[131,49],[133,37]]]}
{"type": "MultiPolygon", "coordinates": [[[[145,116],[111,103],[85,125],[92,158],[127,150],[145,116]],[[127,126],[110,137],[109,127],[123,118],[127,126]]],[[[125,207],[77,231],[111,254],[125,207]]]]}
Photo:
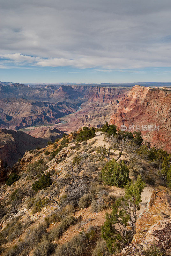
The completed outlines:
{"type": "Polygon", "coordinates": [[[171,255],[171,199],[166,190],[153,191],[151,198],[136,221],[132,243],[120,256],[141,256],[147,253],[171,255]],[[152,246],[152,247],[151,247],[152,246]],[[150,249],[152,248],[152,249],[150,249]],[[159,251],[160,252],[157,252],[159,251]],[[164,252],[164,254],[163,254],[164,252]]]}

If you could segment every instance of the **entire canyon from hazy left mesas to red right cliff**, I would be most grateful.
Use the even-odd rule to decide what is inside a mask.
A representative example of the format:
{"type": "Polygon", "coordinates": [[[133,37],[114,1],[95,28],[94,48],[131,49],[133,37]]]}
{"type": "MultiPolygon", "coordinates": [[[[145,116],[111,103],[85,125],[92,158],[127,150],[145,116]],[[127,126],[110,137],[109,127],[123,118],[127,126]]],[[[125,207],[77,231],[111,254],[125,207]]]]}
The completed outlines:
{"type": "Polygon", "coordinates": [[[108,122],[118,130],[121,125],[131,132],[137,128],[152,146],[171,152],[170,118],[171,90],[164,87],[0,85],[0,128],[21,129],[46,141],[83,126],[101,128],[108,122]]]}

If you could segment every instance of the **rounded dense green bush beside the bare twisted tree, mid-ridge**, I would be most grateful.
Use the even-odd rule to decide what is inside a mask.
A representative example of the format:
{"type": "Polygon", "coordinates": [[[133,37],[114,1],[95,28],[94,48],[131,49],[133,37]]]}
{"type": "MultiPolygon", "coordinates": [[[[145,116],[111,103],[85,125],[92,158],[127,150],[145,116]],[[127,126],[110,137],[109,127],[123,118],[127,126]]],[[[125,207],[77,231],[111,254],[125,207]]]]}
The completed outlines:
{"type": "Polygon", "coordinates": [[[113,158],[105,164],[101,177],[107,185],[123,188],[128,182],[129,169],[123,161],[116,162],[113,158]]]}

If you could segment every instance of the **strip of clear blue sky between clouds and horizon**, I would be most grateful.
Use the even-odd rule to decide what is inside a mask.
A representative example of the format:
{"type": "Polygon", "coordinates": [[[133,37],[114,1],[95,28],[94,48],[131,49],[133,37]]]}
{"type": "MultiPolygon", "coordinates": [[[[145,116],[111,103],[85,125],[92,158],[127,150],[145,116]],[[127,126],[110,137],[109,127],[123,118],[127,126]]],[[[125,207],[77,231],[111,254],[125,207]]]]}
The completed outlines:
{"type": "Polygon", "coordinates": [[[145,68],[141,70],[96,71],[93,68],[71,67],[10,68],[0,69],[4,82],[17,83],[131,83],[170,82],[171,68],[145,68]]]}

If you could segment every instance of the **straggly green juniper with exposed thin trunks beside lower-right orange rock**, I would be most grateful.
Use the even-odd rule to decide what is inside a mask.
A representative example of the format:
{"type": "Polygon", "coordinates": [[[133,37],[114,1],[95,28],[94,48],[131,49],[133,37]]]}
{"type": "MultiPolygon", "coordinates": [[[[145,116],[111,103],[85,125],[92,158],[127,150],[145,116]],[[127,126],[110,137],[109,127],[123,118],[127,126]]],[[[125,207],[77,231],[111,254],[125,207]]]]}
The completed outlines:
{"type": "Polygon", "coordinates": [[[101,229],[110,253],[118,253],[130,243],[135,234],[137,210],[140,209],[141,193],[145,187],[139,175],[136,181],[128,181],[125,196],[118,198],[112,212],[106,214],[106,221],[101,229]]]}

